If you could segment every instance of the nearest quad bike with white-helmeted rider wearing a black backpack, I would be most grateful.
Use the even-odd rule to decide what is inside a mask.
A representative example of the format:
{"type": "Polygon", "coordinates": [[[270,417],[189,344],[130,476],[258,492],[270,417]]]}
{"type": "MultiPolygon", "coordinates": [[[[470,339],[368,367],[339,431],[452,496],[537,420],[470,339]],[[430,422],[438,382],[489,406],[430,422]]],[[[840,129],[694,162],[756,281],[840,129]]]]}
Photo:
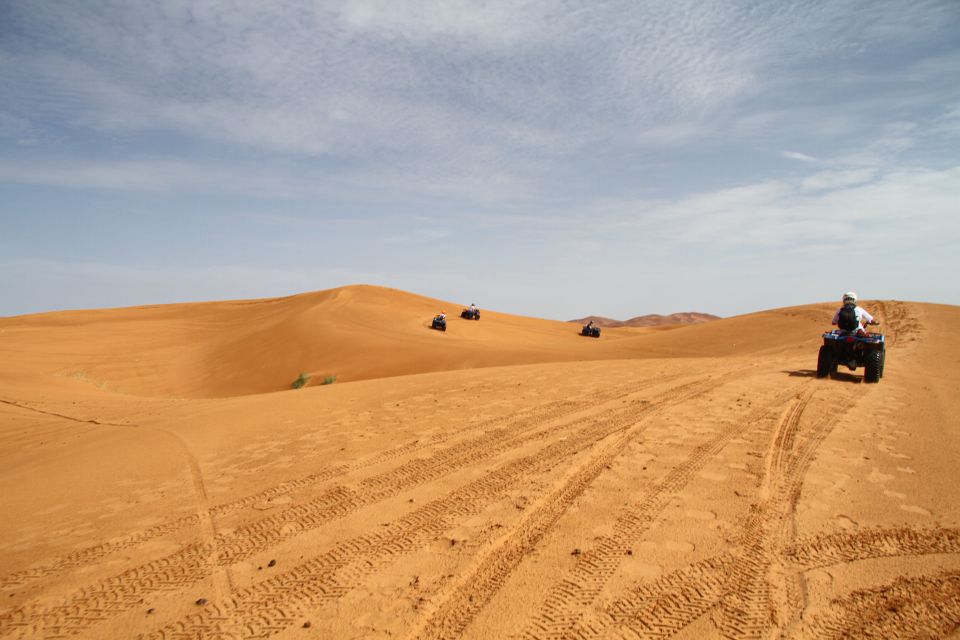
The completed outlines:
{"type": "Polygon", "coordinates": [[[864,367],[864,382],[880,382],[887,359],[886,339],[880,333],[867,333],[865,325],[880,324],[865,309],[857,306],[857,294],[843,294],[843,306],[833,316],[837,329],[823,334],[823,346],[817,357],[817,377],[837,372],[837,365],[851,371],[864,367]]]}

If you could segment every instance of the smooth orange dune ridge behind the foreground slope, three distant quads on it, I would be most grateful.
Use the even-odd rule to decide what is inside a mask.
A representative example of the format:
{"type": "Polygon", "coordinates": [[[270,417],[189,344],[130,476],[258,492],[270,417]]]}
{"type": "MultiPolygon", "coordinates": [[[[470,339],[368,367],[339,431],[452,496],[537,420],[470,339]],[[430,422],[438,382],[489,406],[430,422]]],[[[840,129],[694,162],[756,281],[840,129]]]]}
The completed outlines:
{"type": "Polygon", "coordinates": [[[0,321],[6,371],[95,381],[120,393],[228,397],[313,383],[476,367],[663,356],[733,355],[807,336],[826,309],[753,314],[654,335],[579,326],[461,306],[385,287],[354,285],[283,298],[65,311],[0,321]],[[429,330],[446,311],[450,330],[429,330]],[[806,322],[805,322],[806,320],[806,322]],[[776,327],[776,330],[771,331],[776,327]],[[786,333],[784,333],[786,332],[786,333]],[[17,346],[22,360],[18,361],[17,346]]]}

